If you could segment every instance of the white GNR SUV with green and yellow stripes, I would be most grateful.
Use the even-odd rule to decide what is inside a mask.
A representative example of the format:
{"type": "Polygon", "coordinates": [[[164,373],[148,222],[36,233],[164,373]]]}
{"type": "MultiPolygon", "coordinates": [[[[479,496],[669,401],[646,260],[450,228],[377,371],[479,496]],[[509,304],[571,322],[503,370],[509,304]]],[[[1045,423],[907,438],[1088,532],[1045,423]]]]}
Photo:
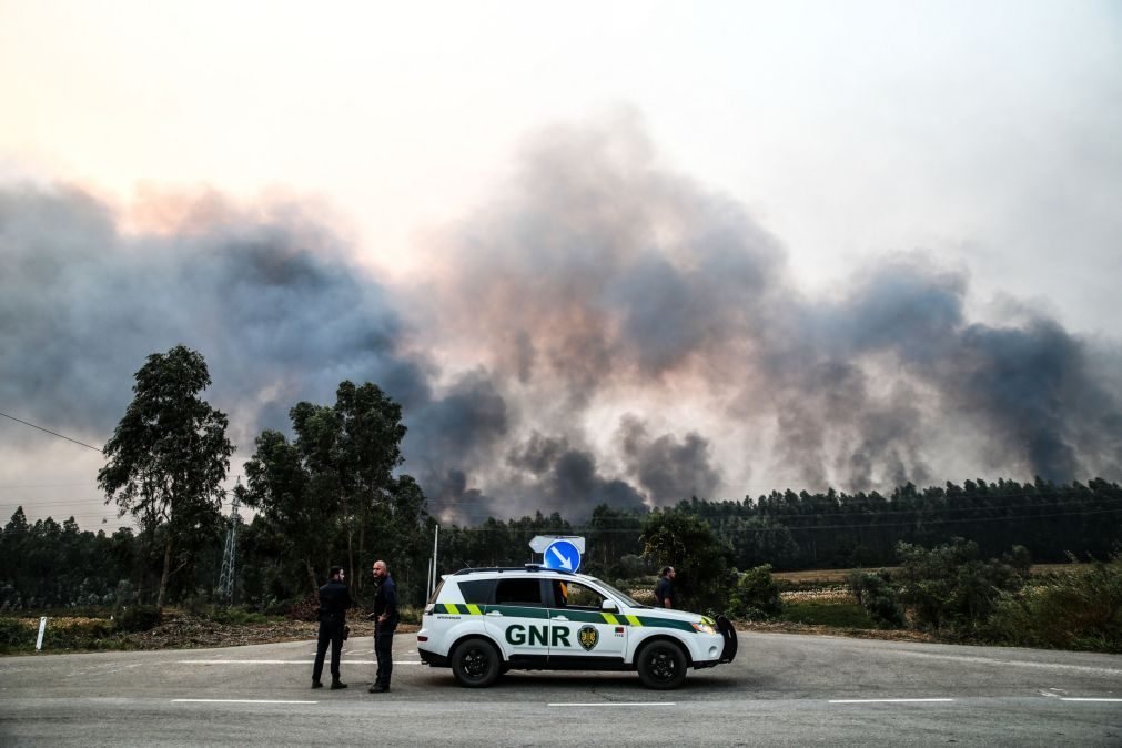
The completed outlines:
{"type": "Polygon", "coordinates": [[[652,608],[571,572],[465,569],[444,576],[424,609],[417,649],[484,687],[509,669],[638,671],[651,689],[677,689],[689,667],[736,657],[736,630],[717,620],[652,608]]]}

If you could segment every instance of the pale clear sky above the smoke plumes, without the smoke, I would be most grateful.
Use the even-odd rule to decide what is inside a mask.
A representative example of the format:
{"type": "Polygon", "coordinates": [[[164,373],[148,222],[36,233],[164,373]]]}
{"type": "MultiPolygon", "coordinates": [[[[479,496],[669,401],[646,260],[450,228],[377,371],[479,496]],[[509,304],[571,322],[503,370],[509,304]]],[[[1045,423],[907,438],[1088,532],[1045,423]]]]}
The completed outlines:
{"type": "MultiPolygon", "coordinates": [[[[0,186],[76,185],[138,230],[154,194],[293,201],[390,285],[527,142],[626,122],[810,297],[919,253],[974,320],[1122,338],[1119,2],[0,0],[0,186]]],[[[31,475],[0,475],[4,519],[31,475]]]]}

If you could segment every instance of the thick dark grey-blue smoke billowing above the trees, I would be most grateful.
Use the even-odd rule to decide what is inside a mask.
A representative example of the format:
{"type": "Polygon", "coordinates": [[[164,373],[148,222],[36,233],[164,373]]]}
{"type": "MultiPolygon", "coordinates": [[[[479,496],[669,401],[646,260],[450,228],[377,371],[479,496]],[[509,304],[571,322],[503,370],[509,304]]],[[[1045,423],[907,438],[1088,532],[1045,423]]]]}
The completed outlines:
{"type": "Polygon", "coordinates": [[[101,443],[145,357],[184,343],[239,464],[296,401],[370,380],[404,406],[405,470],[468,521],[1122,477],[1116,348],[1039,314],[972,322],[966,278],[916,255],[808,298],[775,238],[627,127],[541,133],[408,288],[295,205],[180,202],[173,225],[126,230],[81,191],[0,192],[6,412],[101,443]]]}

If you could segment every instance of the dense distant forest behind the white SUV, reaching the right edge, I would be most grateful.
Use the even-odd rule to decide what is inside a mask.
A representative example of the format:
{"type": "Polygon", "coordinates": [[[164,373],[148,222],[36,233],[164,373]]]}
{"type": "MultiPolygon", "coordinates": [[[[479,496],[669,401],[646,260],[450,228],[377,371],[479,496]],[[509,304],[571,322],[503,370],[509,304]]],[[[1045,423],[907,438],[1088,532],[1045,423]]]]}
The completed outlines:
{"type": "MultiPolygon", "coordinates": [[[[472,527],[441,529],[449,569],[506,565],[530,560],[527,543],[544,530],[581,535],[588,553],[585,569],[608,579],[653,571],[650,538],[665,520],[684,515],[699,519],[729,563],[746,570],[770,564],[775,571],[895,565],[898,545],[935,547],[964,538],[987,557],[1013,545],[1024,546],[1034,563],[1057,563],[1068,554],[1106,558],[1122,544],[1122,488],[1102,479],[1086,484],[967,480],[962,486],[918,489],[905,483],[889,495],[829,490],[772,491],[739,501],[693,497],[655,511],[597,507],[585,521],[570,523],[554,512],[502,521],[489,518],[472,527]]],[[[668,538],[666,543],[673,543],[668,538]]]]}

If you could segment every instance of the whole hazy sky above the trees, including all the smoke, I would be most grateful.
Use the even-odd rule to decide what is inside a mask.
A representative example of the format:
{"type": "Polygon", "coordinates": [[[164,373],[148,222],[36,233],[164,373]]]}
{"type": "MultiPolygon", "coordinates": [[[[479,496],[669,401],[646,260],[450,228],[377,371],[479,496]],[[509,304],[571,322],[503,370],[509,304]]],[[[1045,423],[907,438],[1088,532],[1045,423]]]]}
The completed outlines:
{"type": "Polygon", "coordinates": [[[1122,478],[1118,2],[0,0],[0,410],[90,444],[185,342],[232,473],[375,378],[444,507],[1122,478]]]}

